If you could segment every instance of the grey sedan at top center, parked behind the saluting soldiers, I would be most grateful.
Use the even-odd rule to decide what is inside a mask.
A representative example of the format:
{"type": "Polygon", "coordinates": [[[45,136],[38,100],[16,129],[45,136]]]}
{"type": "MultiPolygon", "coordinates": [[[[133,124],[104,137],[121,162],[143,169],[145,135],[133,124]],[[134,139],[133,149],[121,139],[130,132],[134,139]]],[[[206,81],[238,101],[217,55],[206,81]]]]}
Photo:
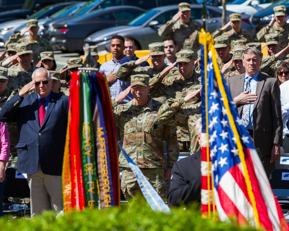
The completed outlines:
{"type": "MultiPolygon", "coordinates": [[[[191,18],[202,23],[201,11],[203,6],[191,4],[190,7],[191,18]]],[[[84,40],[84,46],[97,45],[99,51],[106,53],[110,51],[111,36],[119,34],[123,37],[134,38],[138,49],[148,49],[150,43],[162,41],[162,38],[158,36],[158,28],[168,20],[171,20],[177,11],[177,5],[154,8],[144,12],[126,26],[112,27],[91,34],[84,40]]],[[[212,33],[222,25],[222,10],[215,6],[207,6],[207,11],[210,16],[207,20],[208,31],[212,33]]],[[[227,11],[227,22],[229,21],[229,14],[231,13],[233,12],[227,11]]],[[[242,29],[251,33],[252,36],[255,36],[255,27],[249,21],[249,15],[242,14],[242,21],[242,29]]]]}

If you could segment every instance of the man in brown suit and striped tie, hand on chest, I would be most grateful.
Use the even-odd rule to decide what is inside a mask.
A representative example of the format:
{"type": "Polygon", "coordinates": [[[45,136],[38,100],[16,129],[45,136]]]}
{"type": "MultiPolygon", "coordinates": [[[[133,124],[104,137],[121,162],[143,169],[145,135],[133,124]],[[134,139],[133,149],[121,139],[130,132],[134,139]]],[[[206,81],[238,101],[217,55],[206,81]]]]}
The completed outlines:
{"type": "Polygon", "coordinates": [[[246,72],[228,78],[227,85],[269,178],[283,141],[280,88],[277,79],[260,72],[259,50],[246,49],[242,61],[246,72]]]}

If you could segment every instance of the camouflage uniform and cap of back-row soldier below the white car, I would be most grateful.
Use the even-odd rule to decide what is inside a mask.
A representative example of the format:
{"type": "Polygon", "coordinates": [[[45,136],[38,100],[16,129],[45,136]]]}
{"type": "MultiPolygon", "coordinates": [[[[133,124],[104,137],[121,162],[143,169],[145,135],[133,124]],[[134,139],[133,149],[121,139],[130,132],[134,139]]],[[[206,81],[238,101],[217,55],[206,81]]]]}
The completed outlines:
{"type": "MultiPolygon", "coordinates": [[[[230,17],[231,22],[242,21],[241,14],[238,14],[238,13],[230,14],[229,17],[230,17]]],[[[237,40],[242,40],[244,42],[244,43],[241,43],[240,45],[245,45],[246,43],[254,42],[253,36],[247,31],[244,31],[242,29],[240,32],[235,32],[233,29],[229,31],[222,31],[220,28],[220,29],[217,29],[214,33],[212,33],[213,38],[216,38],[217,36],[220,36],[220,35],[229,36],[231,49],[233,49],[237,44],[241,43],[241,41],[236,42],[237,40]]]]}

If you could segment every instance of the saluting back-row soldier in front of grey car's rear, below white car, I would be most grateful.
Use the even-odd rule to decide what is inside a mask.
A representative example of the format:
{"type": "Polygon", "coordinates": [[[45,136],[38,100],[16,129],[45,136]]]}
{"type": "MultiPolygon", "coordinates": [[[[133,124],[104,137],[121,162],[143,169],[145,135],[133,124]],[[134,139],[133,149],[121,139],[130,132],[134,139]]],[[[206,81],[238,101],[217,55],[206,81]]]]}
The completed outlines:
{"type": "Polygon", "coordinates": [[[213,38],[216,38],[220,35],[229,36],[231,49],[233,49],[236,45],[245,45],[246,43],[254,42],[253,36],[247,31],[241,29],[241,14],[233,13],[230,14],[229,17],[230,21],[225,26],[217,29],[214,33],[212,33],[213,38]],[[227,31],[229,26],[231,26],[232,29],[227,31]]]}

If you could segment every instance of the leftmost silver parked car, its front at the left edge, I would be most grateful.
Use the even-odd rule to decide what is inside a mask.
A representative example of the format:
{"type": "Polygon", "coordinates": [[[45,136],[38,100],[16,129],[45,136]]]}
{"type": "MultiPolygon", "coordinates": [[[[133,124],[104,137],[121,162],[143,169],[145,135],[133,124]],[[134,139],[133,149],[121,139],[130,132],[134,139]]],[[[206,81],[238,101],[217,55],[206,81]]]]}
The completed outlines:
{"type": "MultiPolygon", "coordinates": [[[[38,25],[41,23],[41,18],[47,20],[49,16],[62,10],[64,7],[75,4],[75,2],[67,2],[67,3],[57,3],[54,5],[49,5],[43,8],[42,10],[37,11],[36,13],[29,16],[27,19],[16,19],[8,22],[4,22],[0,24],[0,47],[3,47],[5,42],[9,39],[9,37],[17,32],[20,32],[19,27],[26,28],[26,22],[29,19],[38,19],[38,25]]],[[[28,32],[27,34],[28,35],[28,32]]]]}

